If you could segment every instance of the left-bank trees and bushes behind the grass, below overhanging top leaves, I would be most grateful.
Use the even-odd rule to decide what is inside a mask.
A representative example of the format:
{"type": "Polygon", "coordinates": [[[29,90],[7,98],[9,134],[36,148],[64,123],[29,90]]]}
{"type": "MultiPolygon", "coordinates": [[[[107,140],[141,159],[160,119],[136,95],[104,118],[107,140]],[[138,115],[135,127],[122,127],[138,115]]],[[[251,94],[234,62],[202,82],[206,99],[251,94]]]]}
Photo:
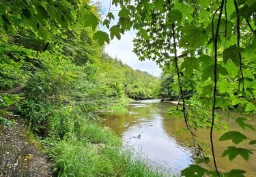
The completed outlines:
{"type": "Polygon", "coordinates": [[[23,93],[20,114],[40,135],[63,137],[74,131],[74,122],[66,125],[63,112],[88,116],[124,97],[158,97],[158,78],[104,54],[92,34],[76,26],[54,44],[31,31],[8,35],[6,41],[2,37],[1,92],[23,93]]]}

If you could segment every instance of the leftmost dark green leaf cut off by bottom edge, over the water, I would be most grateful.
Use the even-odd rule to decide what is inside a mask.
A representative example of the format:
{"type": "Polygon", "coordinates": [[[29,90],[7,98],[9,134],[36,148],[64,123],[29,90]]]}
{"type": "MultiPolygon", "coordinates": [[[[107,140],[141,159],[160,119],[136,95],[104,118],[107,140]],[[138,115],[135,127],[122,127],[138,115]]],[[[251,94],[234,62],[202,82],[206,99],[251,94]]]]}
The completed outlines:
{"type": "Polygon", "coordinates": [[[207,174],[209,171],[205,170],[203,167],[199,165],[189,165],[184,170],[182,170],[181,176],[186,177],[202,177],[207,174]]]}

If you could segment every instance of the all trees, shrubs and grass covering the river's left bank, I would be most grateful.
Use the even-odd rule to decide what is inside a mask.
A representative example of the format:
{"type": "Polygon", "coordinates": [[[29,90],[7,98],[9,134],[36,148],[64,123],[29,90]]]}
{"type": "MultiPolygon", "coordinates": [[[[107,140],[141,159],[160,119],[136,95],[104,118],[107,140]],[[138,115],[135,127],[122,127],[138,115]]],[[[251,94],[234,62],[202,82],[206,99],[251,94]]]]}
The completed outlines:
{"type": "Polygon", "coordinates": [[[23,8],[23,3],[0,3],[0,123],[12,124],[8,107],[15,103],[12,111],[55,161],[59,176],[154,176],[130,152],[119,151],[121,140],[96,123],[94,112],[124,97],[157,97],[158,78],[105,54],[85,17],[59,22],[74,12],[98,16],[97,7],[35,1],[23,8]],[[22,20],[8,14],[13,9],[22,20]],[[50,14],[58,10],[60,19],[50,14]]]}

